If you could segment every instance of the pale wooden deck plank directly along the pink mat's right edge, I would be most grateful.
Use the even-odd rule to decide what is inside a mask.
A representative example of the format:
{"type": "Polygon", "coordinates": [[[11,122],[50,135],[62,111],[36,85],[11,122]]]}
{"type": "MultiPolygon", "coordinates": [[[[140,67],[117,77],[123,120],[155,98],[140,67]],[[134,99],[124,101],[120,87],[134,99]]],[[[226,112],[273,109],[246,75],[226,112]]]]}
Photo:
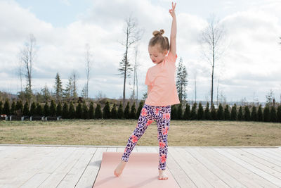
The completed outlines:
{"type": "MultiPolygon", "coordinates": [[[[171,153],[171,155],[174,156],[175,161],[181,165],[181,168],[186,175],[185,180],[187,183],[189,183],[187,184],[188,187],[211,187],[211,184],[204,180],[200,173],[198,173],[197,170],[195,170],[192,165],[188,163],[188,158],[186,158],[181,151],[178,151],[177,148],[170,147],[168,152],[171,153]],[[188,180],[188,178],[190,180],[188,180]]],[[[169,156],[167,156],[167,158],[169,158],[169,156]]]]}

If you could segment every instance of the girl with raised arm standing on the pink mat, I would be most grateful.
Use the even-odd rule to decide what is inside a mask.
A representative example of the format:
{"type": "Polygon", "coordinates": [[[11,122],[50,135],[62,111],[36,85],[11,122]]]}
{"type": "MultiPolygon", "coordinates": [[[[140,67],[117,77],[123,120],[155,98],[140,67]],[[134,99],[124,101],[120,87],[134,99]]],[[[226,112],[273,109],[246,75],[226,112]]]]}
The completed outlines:
{"type": "Polygon", "coordinates": [[[148,44],[148,52],[154,66],[148,68],[145,84],[148,85],[148,97],[145,99],[138,124],[133,134],[128,139],[124,154],[114,174],[121,175],[126,162],[129,159],[133,147],[141,138],[148,125],[154,120],[157,122],[159,140],[159,180],[167,180],[165,173],[166,158],[168,154],[168,130],[171,117],[171,105],[179,104],[178,93],[176,91],[176,4],[172,3],[169,10],[173,21],[171,23],[171,36],[169,39],[163,37],[164,30],[153,32],[154,37],[148,44]],[[169,51],[169,53],[168,53],[169,51]],[[168,55],[167,55],[168,54],[168,55]],[[167,56],[166,56],[167,55],[167,56]]]}

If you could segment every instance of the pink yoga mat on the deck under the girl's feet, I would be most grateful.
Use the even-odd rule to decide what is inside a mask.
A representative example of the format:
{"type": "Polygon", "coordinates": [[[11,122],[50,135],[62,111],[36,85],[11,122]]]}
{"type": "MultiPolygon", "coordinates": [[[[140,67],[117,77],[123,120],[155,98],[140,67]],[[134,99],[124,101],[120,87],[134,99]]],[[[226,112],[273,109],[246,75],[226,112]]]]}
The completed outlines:
{"type": "Polygon", "coordinates": [[[114,175],[114,170],[119,164],[123,153],[103,152],[103,159],[94,188],[122,187],[122,188],[174,188],[178,187],[176,180],[166,167],[168,180],[158,180],[159,153],[132,152],[126,163],[122,175],[114,175]]]}

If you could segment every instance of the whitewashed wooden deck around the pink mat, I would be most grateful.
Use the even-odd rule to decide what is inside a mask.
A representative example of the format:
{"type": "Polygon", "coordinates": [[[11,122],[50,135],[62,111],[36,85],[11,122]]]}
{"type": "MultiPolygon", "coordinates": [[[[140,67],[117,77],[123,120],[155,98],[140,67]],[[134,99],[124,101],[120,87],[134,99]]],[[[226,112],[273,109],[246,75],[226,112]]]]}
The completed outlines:
{"type": "MultiPolygon", "coordinates": [[[[0,187],[90,188],[103,152],[124,148],[0,144],[0,187]]],[[[169,146],[166,167],[180,187],[281,187],[281,147],[169,146]]]]}

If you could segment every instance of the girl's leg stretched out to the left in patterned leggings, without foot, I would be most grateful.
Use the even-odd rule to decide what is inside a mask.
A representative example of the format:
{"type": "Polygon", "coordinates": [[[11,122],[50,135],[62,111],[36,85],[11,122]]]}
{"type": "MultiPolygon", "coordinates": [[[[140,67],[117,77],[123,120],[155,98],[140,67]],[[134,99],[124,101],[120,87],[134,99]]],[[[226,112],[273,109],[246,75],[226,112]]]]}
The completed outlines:
{"type": "Polygon", "coordinates": [[[141,114],[138,118],[138,124],[136,125],[136,129],[133,130],[133,134],[131,134],[126,144],[126,148],[121,158],[123,161],[127,162],[129,160],[131,151],[133,151],[134,146],[136,146],[138,139],[140,139],[141,136],[143,136],[143,133],[148,128],[148,125],[150,125],[153,122],[152,114],[153,114],[152,107],[147,104],[144,104],[141,110],[141,114]]]}

